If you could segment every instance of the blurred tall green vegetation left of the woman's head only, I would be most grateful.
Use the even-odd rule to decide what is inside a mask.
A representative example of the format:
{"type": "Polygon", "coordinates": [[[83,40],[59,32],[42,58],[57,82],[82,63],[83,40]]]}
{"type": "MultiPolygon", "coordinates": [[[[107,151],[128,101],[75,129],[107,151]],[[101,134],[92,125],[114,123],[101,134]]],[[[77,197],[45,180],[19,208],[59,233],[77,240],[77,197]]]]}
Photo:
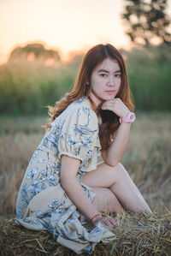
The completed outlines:
{"type": "Polygon", "coordinates": [[[73,86],[76,68],[20,61],[0,66],[0,114],[46,114],[73,86]]]}

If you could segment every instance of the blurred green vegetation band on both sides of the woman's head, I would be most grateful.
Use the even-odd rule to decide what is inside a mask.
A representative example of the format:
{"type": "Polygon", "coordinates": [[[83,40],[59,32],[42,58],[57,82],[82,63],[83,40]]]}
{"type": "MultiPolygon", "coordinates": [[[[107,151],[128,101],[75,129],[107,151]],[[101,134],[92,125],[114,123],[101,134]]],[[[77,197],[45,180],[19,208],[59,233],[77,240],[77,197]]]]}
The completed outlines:
{"type": "MultiPolygon", "coordinates": [[[[171,51],[150,47],[121,51],[137,110],[171,110],[171,51]]],[[[81,58],[45,66],[40,61],[18,60],[0,66],[0,115],[46,115],[71,91],[81,58]]]]}

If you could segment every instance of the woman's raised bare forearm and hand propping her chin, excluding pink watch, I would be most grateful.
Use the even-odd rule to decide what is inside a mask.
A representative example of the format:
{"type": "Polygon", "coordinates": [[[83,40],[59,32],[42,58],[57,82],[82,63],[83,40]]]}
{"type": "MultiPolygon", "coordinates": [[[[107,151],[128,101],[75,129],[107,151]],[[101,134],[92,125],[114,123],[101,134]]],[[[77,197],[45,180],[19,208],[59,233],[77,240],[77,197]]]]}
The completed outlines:
{"type": "MultiPolygon", "coordinates": [[[[102,110],[111,110],[120,117],[127,116],[127,114],[130,112],[120,98],[114,98],[104,102],[102,105],[102,110]]],[[[115,140],[113,140],[107,150],[102,150],[102,158],[104,163],[115,166],[118,164],[118,162],[120,162],[127,146],[130,128],[131,123],[121,123],[115,135],[115,140]]]]}

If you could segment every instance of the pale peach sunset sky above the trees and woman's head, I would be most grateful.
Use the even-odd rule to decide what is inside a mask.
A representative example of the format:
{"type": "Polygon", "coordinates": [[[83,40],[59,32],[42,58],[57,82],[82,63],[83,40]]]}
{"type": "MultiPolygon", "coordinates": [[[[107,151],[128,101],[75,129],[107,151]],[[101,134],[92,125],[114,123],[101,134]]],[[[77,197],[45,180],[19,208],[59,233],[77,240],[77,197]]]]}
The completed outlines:
{"type": "Polygon", "coordinates": [[[0,63],[16,46],[45,43],[70,51],[98,43],[129,48],[121,21],[124,0],[0,0],[0,63]]]}

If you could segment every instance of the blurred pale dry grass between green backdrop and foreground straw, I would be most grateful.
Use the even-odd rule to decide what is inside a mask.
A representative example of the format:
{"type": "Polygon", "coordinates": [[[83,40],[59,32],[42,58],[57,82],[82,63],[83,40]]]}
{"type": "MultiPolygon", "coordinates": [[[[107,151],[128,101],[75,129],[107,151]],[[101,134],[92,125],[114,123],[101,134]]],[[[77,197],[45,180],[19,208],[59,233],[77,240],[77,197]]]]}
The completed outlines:
{"type": "MultiPolygon", "coordinates": [[[[1,117],[1,217],[15,215],[15,199],[22,177],[44,136],[47,116],[1,117]]],[[[166,211],[171,203],[171,115],[137,113],[127,151],[121,160],[152,210],[166,211]]]]}

